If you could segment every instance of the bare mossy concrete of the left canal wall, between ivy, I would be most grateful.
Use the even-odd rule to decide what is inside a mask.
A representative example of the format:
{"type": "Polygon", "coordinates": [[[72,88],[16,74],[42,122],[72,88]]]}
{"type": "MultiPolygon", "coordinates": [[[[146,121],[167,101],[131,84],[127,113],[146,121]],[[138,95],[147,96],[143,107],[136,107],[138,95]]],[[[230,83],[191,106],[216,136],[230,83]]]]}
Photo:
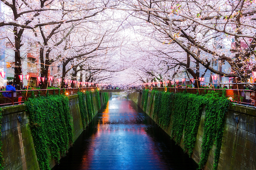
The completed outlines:
{"type": "MultiPolygon", "coordinates": [[[[93,96],[94,114],[98,113],[95,93],[93,96]]],[[[111,93],[109,93],[109,98],[111,93]]],[[[79,110],[78,95],[68,96],[70,114],[72,116],[73,140],[83,132],[81,114],[79,110]]],[[[104,105],[103,96],[100,93],[101,107],[104,105]]],[[[85,102],[86,104],[86,102],[85,102]]],[[[3,107],[2,136],[4,170],[39,170],[36,149],[33,143],[32,132],[29,125],[29,113],[25,105],[3,107]],[[19,122],[18,117],[22,118],[19,122]]],[[[55,161],[50,158],[50,167],[55,166],[55,161]]]]}

